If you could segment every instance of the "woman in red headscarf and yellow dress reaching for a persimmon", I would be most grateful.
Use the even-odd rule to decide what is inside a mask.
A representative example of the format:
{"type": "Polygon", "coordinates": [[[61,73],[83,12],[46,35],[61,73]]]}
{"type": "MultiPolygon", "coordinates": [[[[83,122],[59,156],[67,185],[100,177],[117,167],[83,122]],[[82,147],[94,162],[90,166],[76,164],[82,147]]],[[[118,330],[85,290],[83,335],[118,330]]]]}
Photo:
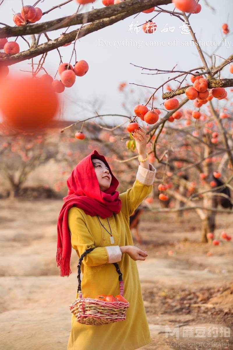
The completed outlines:
{"type": "Polygon", "coordinates": [[[63,198],[57,225],[61,276],[71,273],[71,246],[79,258],[85,250],[95,248],[82,260],[82,295],[118,295],[118,273],[112,264],[117,262],[124,297],[130,303],[126,320],[121,322],[87,325],[72,314],[67,350],[134,350],[151,342],[136,263],[145,260],[147,253],[133,245],[129,217],[151,193],[156,169],[147,160],[145,131],[133,135],[142,162],[132,188],[122,194],[116,191],[119,182],[96,150],[78,163],[67,180],[68,195],[63,198]]]}

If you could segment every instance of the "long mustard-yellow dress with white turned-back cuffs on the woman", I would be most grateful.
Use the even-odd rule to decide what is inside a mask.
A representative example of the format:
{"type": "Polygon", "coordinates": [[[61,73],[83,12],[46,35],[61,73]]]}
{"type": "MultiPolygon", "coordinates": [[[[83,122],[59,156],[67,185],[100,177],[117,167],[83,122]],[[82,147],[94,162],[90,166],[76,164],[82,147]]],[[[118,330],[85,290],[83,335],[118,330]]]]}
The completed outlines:
{"type": "MultiPolygon", "coordinates": [[[[80,258],[86,249],[95,248],[83,258],[81,264],[81,289],[84,297],[119,294],[119,275],[114,264],[109,263],[109,259],[112,259],[105,247],[133,245],[129,216],[152,191],[156,169],[149,164],[150,170],[139,165],[132,188],[119,194],[122,201],[121,211],[108,217],[114,244],[110,244],[110,235],[96,216],[87,215],[77,207],[68,211],[71,244],[78,257],[80,258]]],[[[100,221],[110,232],[107,218],[100,217],[100,221]]],[[[122,254],[120,261],[114,262],[117,262],[122,272],[124,297],[130,303],[126,310],[126,320],[103,325],[86,325],[77,322],[72,314],[67,350],[134,350],[151,342],[137,263],[127,253],[122,254]]],[[[77,289],[74,297],[78,298],[77,289]]]]}

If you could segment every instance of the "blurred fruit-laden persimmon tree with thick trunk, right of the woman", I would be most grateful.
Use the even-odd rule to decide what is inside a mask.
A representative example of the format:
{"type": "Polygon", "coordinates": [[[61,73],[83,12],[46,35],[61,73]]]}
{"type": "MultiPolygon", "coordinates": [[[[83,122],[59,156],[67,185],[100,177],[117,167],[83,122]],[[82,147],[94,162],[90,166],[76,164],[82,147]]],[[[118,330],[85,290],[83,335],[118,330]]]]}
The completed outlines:
{"type": "MultiPolygon", "coordinates": [[[[166,85],[166,87],[170,89],[169,86],[166,85]]],[[[124,102],[127,108],[130,106],[130,99],[128,103],[124,102]]],[[[147,100],[145,98],[145,103],[147,100]]],[[[151,103],[147,106],[151,106],[151,103]]],[[[227,103],[232,104],[229,100],[227,103]]],[[[228,152],[230,150],[232,153],[233,149],[230,109],[223,107],[227,118],[223,115],[221,115],[223,119],[219,117],[224,133],[227,135],[228,147],[225,146],[225,139],[219,131],[219,124],[214,119],[215,114],[220,112],[220,106],[214,110],[210,106],[204,109],[203,106],[202,109],[199,109],[200,118],[195,120],[192,116],[193,110],[185,109],[185,105],[177,110],[181,113],[180,115],[174,111],[169,115],[160,106],[155,96],[154,110],[158,110],[161,119],[160,123],[156,123],[158,127],[153,131],[150,126],[146,126],[147,149],[150,154],[149,161],[151,163],[156,161],[154,194],[159,194],[161,204],[164,203],[163,206],[168,209],[154,209],[153,211],[181,213],[184,210],[195,210],[202,222],[201,240],[205,242],[207,233],[214,232],[217,212],[231,213],[232,209],[230,191],[226,193],[226,188],[232,189],[233,175],[231,157],[229,158],[228,152]],[[171,118],[172,115],[178,118],[171,118]],[[174,202],[171,201],[171,198],[177,201],[176,208],[173,207],[174,202]],[[220,208],[217,208],[218,205],[220,208]]],[[[139,123],[139,125],[143,124],[139,123]]],[[[133,144],[133,140],[127,142],[133,144]]],[[[133,159],[137,159],[137,155],[124,161],[133,159]]]]}

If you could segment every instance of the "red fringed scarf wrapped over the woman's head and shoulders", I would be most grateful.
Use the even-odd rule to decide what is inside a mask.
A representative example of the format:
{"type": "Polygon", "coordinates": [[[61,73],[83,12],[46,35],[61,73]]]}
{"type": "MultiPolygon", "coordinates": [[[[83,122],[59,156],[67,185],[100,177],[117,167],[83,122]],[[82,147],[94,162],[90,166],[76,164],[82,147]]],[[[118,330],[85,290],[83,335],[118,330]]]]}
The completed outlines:
{"type": "Polygon", "coordinates": [[[69,276],[71,257],[71,238],[68,229],[68,210],[72,207],[83,209],[91,216],[99,215],[102,219],[118,214],[121,211],[121,200],[118,197],[118,180],[104,158],[96,150],[83,158],[72,170],[67,181],[68,195],[63,198],[64,204],[57,221],[57,266],[61,269],[61,276],[69,276]],[[107,165],[112,176],[110,187],[104,192],[100,190],[92,159],[100,159],[107,165]]]}

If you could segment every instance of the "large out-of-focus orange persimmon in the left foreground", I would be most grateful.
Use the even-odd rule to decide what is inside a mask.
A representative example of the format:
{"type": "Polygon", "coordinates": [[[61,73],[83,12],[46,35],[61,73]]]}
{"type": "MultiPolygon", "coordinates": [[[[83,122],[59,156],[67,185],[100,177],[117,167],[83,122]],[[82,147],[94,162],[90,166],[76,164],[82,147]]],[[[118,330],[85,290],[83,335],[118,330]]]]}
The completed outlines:
{"type": "Polygon", "coordinates": [[[18,131],[46,127],[56,116],[59,100],[51,84],[28,76],[0,80],[3,123],[18,131]]]}

